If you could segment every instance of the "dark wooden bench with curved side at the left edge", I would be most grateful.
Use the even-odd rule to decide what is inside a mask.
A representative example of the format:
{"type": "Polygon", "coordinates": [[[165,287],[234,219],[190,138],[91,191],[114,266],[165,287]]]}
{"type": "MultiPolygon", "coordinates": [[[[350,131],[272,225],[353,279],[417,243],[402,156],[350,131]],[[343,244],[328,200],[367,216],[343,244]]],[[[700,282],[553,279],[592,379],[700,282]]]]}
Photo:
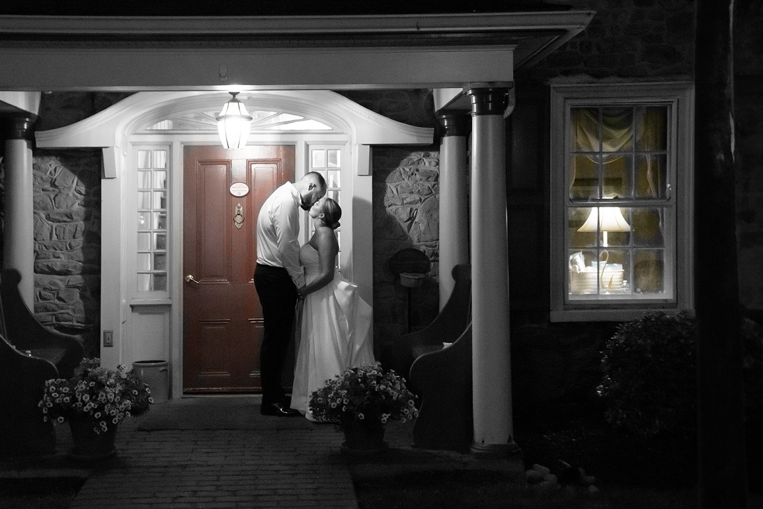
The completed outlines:
{"type": "Polygon", "coordinates": [[[43,327],[18,292],[21,276],[0,272],[0,456],[53,453],[53,423],[37,403],[48,379],[69,378],[85,350],[73,337],[43,327]]]}

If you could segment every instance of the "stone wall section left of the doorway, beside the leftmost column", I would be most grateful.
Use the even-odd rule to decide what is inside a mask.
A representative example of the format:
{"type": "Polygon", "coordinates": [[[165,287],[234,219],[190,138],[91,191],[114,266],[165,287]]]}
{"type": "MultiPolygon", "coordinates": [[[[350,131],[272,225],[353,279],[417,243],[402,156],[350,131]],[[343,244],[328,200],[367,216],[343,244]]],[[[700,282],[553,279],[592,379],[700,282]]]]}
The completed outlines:
{"type": "Polygon", "coordinates": [[[101,151],[34,156],[34,312],[98,353],[101,151]]]}

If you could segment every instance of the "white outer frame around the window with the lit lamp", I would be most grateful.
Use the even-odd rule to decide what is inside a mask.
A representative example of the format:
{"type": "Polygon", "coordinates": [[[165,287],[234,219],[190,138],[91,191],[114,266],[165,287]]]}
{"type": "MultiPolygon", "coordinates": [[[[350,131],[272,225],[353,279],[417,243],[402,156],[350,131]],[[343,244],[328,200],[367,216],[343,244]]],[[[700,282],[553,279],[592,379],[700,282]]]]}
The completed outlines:
{"type": "Polygon", "coordinates": [[[549,133],[549,233],[550,233],[550,319],[551,321],[626,321],[646,311],[678,311],[694,307],[693,217],[694,217],[694,85],[691,82],[649,83],[562,83],[550,89],[549,133]],[[659,102],[668,105],[669,166],[673,172],[671,198],[675,199],[674,295],[673,298],[617,300],[575,299],[565,295],[568,285],[566,206],[568,198],[568,128],[570,108],[639,105],[659,102]]]}

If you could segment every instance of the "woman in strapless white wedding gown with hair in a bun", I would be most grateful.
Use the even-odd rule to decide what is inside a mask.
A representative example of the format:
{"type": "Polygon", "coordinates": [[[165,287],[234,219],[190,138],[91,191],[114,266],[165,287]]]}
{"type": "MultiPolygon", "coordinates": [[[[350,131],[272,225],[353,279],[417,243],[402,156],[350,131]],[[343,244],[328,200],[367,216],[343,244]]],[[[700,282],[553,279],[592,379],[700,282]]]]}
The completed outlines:
{"type": "Polygon", "coordinates": [[[300,343],[291,389],[291,408],[314,420],[307,404],[313,391],[350,367],[375,362],[371,344],[371,306],[358,287],[336,271],[336,230],[342,209],[320,198],[308,212],[315,233],[301,247],[299,259],[307,283],[298,289],[302,306],[300,343]]]}

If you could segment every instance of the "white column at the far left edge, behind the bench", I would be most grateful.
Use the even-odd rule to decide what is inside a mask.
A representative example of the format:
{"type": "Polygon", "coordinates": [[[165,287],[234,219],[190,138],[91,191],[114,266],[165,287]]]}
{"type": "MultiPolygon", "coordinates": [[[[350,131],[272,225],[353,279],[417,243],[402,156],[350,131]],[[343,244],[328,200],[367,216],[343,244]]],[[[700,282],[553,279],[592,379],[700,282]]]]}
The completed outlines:
{"type": "Polygon", "coordinates": [[[21,298],[34,313],[34,206],[31,118],[11,120],[5,140],[5,230],[3,266],[21,274],[21,298]]]}

